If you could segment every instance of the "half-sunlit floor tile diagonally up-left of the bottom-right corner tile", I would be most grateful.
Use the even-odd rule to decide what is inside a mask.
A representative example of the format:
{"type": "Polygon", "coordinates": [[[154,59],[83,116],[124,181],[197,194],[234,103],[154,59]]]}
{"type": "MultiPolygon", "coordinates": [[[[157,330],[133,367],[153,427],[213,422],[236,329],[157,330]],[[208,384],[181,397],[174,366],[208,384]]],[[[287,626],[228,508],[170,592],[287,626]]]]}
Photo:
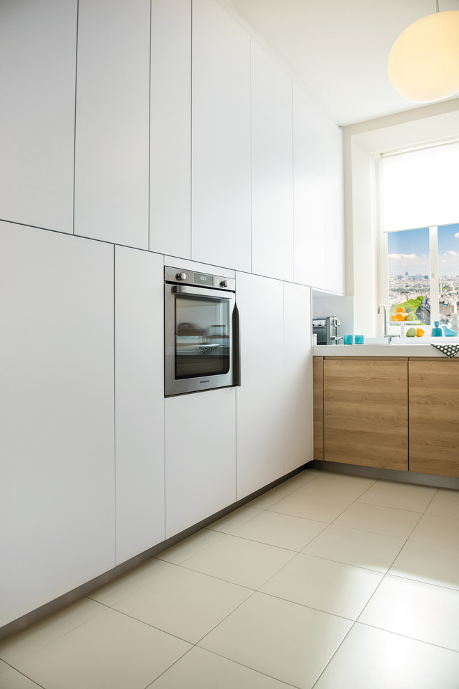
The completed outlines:
{"type": "Polygon", "coordinates": [[[300,553],[260,591],[332,615],[357,619],[383,576],[380,572],[300,553]]]}

